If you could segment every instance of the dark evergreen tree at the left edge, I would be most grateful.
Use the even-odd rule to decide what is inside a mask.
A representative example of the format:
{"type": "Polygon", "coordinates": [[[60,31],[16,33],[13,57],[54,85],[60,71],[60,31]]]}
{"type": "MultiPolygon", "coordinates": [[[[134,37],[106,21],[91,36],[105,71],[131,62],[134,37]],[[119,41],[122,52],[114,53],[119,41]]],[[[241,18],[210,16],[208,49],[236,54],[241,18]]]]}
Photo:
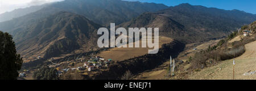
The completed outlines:
{"type": "Polygon", "coordinates": [[[22,63],[22,58],[16,54],[13,37],[0,31],[0,79],[17,79],[22,63]]]}

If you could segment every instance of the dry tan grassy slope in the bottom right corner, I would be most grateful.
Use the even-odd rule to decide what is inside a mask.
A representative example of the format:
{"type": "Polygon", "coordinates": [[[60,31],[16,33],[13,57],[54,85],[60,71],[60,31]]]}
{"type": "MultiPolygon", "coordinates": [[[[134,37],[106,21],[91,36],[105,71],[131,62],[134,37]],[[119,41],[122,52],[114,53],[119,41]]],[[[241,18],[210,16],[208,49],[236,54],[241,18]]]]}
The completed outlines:
{"type": "MultiPolygon", "coordinates": [[[[256,75],[243,75],[243,73],[256,70],[255,46],[256,41],[246,44],[245,53],[235,58],[235,79],[256,79],[256,75]]],[[[225,60],[217,66],[192,73],[189,79],[233,79],[233,59],[225,60]]]]}

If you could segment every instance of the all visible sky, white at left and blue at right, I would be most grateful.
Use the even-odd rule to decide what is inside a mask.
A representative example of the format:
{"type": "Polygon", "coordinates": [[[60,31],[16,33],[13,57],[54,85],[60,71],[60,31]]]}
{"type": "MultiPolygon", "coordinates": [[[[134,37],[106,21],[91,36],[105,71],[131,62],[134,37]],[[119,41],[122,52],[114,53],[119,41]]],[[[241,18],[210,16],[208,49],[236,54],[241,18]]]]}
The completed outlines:
{"type": "MultiPolygon", "coordinates": [[[[63,0],[0,0],[0,14],[12,11],[16,8],[24,8],[43,3],[56,2],[63,0]]],[[[206,7],[217,7],[225,10],[242,10],[256,14],[256,0],[125,0],[140,2],[163,3],[167,6],[176,6],[180,3],[190,3],[191,5],[202,5],[206,7]]]]}

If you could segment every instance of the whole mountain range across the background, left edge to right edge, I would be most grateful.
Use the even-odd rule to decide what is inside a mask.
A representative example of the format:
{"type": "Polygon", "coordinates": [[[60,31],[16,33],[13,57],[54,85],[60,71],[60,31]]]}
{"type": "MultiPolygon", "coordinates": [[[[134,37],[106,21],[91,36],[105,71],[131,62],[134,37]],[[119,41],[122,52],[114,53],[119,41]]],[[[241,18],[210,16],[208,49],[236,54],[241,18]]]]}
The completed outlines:
{"type": "Polygon", "coordinates": [[[184,3],[163,4],[121,0],[66,0],[24,16],[3,21],[0,30],[13,35],[18,53],[46,58],[97,46],[97,29],[158,27],[160,36],[191,43],[225,37],[256,20],[239,10],[221,10],[184,3]]]}

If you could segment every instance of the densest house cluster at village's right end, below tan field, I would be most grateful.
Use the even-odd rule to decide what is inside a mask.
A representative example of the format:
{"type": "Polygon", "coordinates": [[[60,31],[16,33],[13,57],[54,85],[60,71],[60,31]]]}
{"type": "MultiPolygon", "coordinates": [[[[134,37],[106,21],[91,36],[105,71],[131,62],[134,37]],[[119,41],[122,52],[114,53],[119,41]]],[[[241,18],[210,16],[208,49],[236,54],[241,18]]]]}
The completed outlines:
{"type": "Polygon", "coordinates": [[[96,68],[108,67],[112,59],[105,60],[99,56],[95,58],[90,58],[90,60],[84,63],[84,67],[88,68],[88,71],[93,71],[96,68]]]}

